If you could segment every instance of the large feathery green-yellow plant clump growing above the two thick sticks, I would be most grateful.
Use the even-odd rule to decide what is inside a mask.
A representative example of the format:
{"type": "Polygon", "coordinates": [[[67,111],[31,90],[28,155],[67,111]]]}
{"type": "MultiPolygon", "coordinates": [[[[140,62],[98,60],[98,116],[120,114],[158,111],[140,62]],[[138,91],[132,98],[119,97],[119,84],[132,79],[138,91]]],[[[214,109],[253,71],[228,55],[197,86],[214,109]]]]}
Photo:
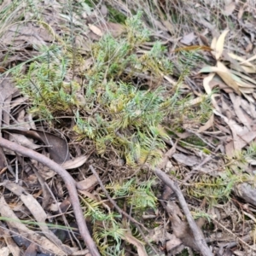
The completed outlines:
{"type": "MultiPolygon", "coordinates": [[[[41,57],[30,63],[26,73],[20,66],[12,74],[21,92],[31,99],[32,113],[47,120],[61,113],[73,114],[79,139],[93,140],[98,154],[114,148],[129,166],[145,162],[155,166],[160,150],[165,148],[162,138],[167,137],[160,123],[172,98],[166,99],[162,86],[142,90],[132,83],[132,76],[135,72],[148,73],[160,79],[172,73],[172,62],[159,42],[143,55],[137,54],[150,35],[140,17],[126,20],[125,37],[107,34],[92,44],[94,63],[80,73],[83,85],[72,79],[65,81],[73,69],[73,54],[57,46],[40,49],[41,57]]],[[[79,67],[83,59],[77,59],[81,62],[75,65],[79,67]]]]}

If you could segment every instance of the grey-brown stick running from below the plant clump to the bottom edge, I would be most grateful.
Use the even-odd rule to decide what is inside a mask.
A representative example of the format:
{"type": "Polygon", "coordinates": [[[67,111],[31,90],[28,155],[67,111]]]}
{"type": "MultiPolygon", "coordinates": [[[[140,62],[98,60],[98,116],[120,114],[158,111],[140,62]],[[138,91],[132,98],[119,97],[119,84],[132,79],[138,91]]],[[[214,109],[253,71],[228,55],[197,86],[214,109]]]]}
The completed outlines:
{"type": "Polygon", "coordinates": [[[153,172],[156,174],[157,177],[160,178],[160,180],[163,183],[166,183],[168,187],[170,187],[175,195],[177,196],[177,200],[179,201],[180,206],[183,208],[183,212],[188,220],[190,230],[192,231],[195,243],[197,247],[200,249],[200,252],[203,256],[213,256],[212,252],[210,251],[209,247],[207,247],[207,242],[205,241],[204,237],[201,236],[201,232],[199,230],[199,227],[197,224],[195,224],[195,220],[192,217],[191,213],[189,212],[189,207],[184,199],[182,191],[179,189],[179,187],[172,181],[168,175],[166,175],[165,172],[162,172],[159,168],[154,168],[153,172]]]}

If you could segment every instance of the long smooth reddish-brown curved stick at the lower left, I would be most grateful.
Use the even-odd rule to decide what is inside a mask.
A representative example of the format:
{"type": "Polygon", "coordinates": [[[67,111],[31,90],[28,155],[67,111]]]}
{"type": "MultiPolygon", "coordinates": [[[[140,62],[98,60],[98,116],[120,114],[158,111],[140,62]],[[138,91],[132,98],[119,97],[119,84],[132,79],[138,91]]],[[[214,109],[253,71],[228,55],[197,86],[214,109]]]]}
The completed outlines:
{"type": "Polygon", "coordinates": [[[53,160],[50,160],[48,157],[44,156],[43,154],[39,154],[38,152],[33,151],[32,149],[25,148],[20,146],[19,144],[9,142],[3,137],[0,137],[0,146],[3,148],[8,148],[9,150],[13,150],[16,153],[21,154],[23,156],[30,157],[33,160],[37,160],[43,165],[48,166],[51,170],[53,170],[63,178],[64,183],[67,186],[68,193],[70,195],[76,221],[79,225],[80,235],[82,236],[86,246],[88,247],[90,254],[92,256],[101,256],[101,254],[98,252],[95,242],[92,240],[90,236],[90,232],[85,223],[84,214],[80,207],[79,195],[76,189],[76,182],[74,181],[73,177],[64,168],[55,163],[53,160]]]}

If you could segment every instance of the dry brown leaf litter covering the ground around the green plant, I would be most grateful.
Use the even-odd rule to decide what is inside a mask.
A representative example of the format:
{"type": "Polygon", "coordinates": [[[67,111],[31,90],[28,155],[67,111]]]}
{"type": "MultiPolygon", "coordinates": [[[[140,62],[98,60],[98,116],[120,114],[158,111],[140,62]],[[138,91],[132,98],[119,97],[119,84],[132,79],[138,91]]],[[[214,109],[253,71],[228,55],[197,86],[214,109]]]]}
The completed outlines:
{"type": "MultiPolygon", "coordinates": [[[[182,125],[175,130],[171,129],[175,121],[165,120],[163,129],[171,129],[173,137],[166,141],[169,147],[166,148],[166,152],[161,151],[163,161],[159,166],[183,189],[183,195],[190,211],[194,213],[194,218],[205,219],[204,226],[199,225],[199,230],[210,233],[209,236],[205,236],[206,234],[202,236],[206,237],[212,253],[216,255],[232,253],[256,255],[253,242],[256,205],[253,187],[256,150],[253,144],[256,137],[254,124],[256,52],[253,28],[256,20],[255,9],[251,2],[180,1],[177,5],[174,3],[168,5],[166,1],[154,1],[153,15],[148,2],[140,5],[134,2],[124,6],[121,2],[116,5],[113,1],[107,1],[110,6],[114,6],[122,14],[125,12],[126,15],[131,13],[131,10],[143,8],[145,24],[148,26],[150,20],[154,24],[152,29],[155,37],[167,40],[169,57],[175,63],[177,70],[172,76],[164,75],[166,79],[164,84],[171,90],[179,84],[183,96],[191,95],[190,102],[185,102],[183,106],[198,111],[196,107],[203,102],[203,90],[209,96],[212,113],[207,115],[204,121],[198,122],[195,114],[194,119],[187,119],[186,113],[183,113],[182,125]],[[169,20],[165,20],[165,15],[169,20]],[[177,20],[172,19],[175,15],[177,20]],[[201,33],[203,30],[205,30],[204,34],[201,33]],[[212,42],[211,50],[207,48],[208,42],[212,42]],[[188,58],[188,55],[185,57],[182,55],[185,51],[193,55],[200,51],[204,60],[196,59],[194,66],[190,67],[190,74],[180,82],[179,61],[188,58]],[[173,52],[178,54],[178,58],[173,52]],[[193,139],[190,139],[192,136],[193,139]],[[212,184],[207,185],[210,181],[212,184]],[[211,189],[211,186],[212,188],[216,186],[216,189],[211,189]],[[201,193],[203,190],[205,194],[201,193]],[[225,196],[229,201],[224,200],[225,196]],[[214,230],[211,230],[211,224],[214,230]]],[[[10,6],[9,1],[3,1],[1,12],[7,12],[10,6]]],[[[1,24],[2,137],[39,151],[65,169],[71,170],[77,181],[77,188],[81,190],[80,195],[104,205],[106,211],[110,213],[113,207],[108,207],[111,203],[102,196],[102,191],[97,187],[96,177],[90,175],[89,166],[93,163],[98,167],[106,186],[109,181],[124,183],[127,177],[134,175],[132,169],[124,165],[124,160],[117,161],[113,152],[109,151],[109,154],[99,157],[95,153],[93,143],[88,139],[84,140],[84,145],[79,144],[76,140],[77,136],[71,132],[73,121],[65,122],[60,119],[59,124],[58,122],[47,124],[44,120],[37,120],[36,115],[31,118],[30,113],[27,113],[30,103],[27,97],[22,96],[15,88],[9,73],[20,63],[26,65],[32,58],[37,60],[40,56],[38,51],[40,47],[45,45],[50,47],[56,42],[63,44],[61,34],[72,34],[74,27],[77,30],[76,47],[84,55],[88,55],[91,45],[99,41],[106,32],[111,32],[113,37],[119,37],[125,31],[125,26],[108,20],[111,14],[104,3],[93,5],[91,8],[84,3],[80,12],[77,12],[76,8],[73,9],[75,11],[73,16],[65,13],[65,8],[71,10],[71,6],[65,1],[55,3],[46,1],[46,5],[40,1],[33,1],[33,6],[36,9],[26,12],[25,20],[30,20],[32,15],[40,16],[41,20],[20,21],[16,17],[19,17],[24,7],[17,5],[13,14],[1,24]],[[73,27],[67,26],[68,22],[73,27]],[[5,71],[7,73],[4,73],[5,71]]],[[[81,8],[80,5],[76,7],[78,6],[81,8]]],[[[140,51],[137,54],[140,54],[140,51]]],[[[94,60],[87,56],[85,60],[87,61],[84,61],[84,66],[81,65],[79,68],[90,70],[94,60]]],[[[74,67],[74,70],[76,68],[74,67]]],[[[154,81],[149,73],[133,74],[138,80],[154,81]]],[[[129,75],[131,71],[128,70],[127,76],[129,75]]],[[[70,83],[71,77],[73,77],[72,72],[65,78],[67,83],[70,83]]],[[[81,80],[79,75],[76,79],[81,80]]],[[[79,94],[82,98],[83,92],[80,91],[79,94]]],[[[83,240],[79,236],[78,226],[68,227],[68,224],[74,223],[73,213],[61,211],[61,203],[64,205],[66,200],[64,196],[66,189],[61,179],[55,177],[55,172],[37,161],[15,154],[14,151],[1,148],[0,154],[1,186],[4,188],[1,195],[1,233],[5,244],[1,248],[3,255],[6,252],[11,252],[13,255],[19,253],[75,255],[75,251],[82,253],[84,246],[81,245],[83,240]],[[17,199],[22,207],[18,207],[17,199]],[[41,204],[44,207],[41,207],[41,204]],[[51,211],[54,205],[55,210],[51,211]],[[17,218],[23,211],[26,211],[26,217],[32,220],[30,224],[23,223],[17,218]],[[67,214],[66,220],[58,216],[63,213],[67,214]],[[48,221],[45,225],[46,219],[48,221]],[[54,230],[65,230],[66,237],[63,241],[49,228],[53,220],[56,224],[65,224],[64,228],[56,225],[54,230]],[[38,225],[41,233],[33,228],[33,224],[38,225]],[[7,239],[6,236],[21,237],[24,239],[22,246],[17,247],[15,239],[12,240],[11,237],[7,239]],[[32,247],[32,245],[36,246],[32,247]]],[[[144,178],[147,179],[148,175],[144,178]]],[[[159,187],[163,185],[160,181],[157,183],[159,187]]],[[[164,192],[165,189],[158,189],[160,195],[164,192]]],[[[186,218],[178,208],[177,199],[173,194],[175,193],[171,191],[165,199],[166,203],[162,202],[164,205],[158,209],[160,215],[154,215],[157,216],[155,224],[158,224],[158,227],[147,226],[149,234],[147,240],[154,241],[154,249],[160,255],[178,255],[186,250],[184,247],[200,251],[201,248],[196,244],[193,232],[189,230],[186,218]],[[167,220],[164,218],[165,214],[168,216],[167,220]],[[154,232],[149,230],[160,230],[159,237],[150,235],[154,232]]],[[[69,206],[70,203],[67,205],[69,206]]],[[[27,220],[26,217],[24,219],[27,220]]],[[[127,219],[124,218],[125,221],[127,219]]],[[[143,238],[138,239],[134,233],[131,233],[131,227],[127,224],[125,228],[126,230],[120,235],[123,241],[133,245],[135,249],[131,250],[135,250],[138,255],[147,255],[143,238]]],[[[144,232],[147,231],[143,230],[141,234],[144,232]]],[[[129,251],[129,247],[123,249],[129,251]]],[[[81,255],[86,253],[88,251],[81,255]]]]}

